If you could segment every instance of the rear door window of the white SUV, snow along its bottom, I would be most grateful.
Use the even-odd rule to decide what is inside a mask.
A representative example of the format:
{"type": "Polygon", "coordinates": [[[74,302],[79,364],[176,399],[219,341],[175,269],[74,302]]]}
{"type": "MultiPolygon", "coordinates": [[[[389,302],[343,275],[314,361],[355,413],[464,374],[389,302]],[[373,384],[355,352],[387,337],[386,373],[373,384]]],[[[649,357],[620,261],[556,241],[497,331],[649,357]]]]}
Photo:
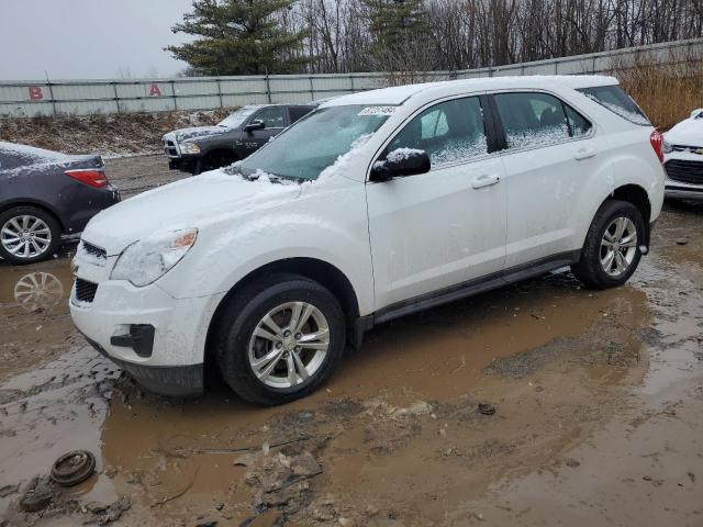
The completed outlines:
{"type": "Polygon", "coordinates": [[[571,136],[563,105],[556,97],[536,92],[494,97],[507,148],[549,146],[571,136]]]}

